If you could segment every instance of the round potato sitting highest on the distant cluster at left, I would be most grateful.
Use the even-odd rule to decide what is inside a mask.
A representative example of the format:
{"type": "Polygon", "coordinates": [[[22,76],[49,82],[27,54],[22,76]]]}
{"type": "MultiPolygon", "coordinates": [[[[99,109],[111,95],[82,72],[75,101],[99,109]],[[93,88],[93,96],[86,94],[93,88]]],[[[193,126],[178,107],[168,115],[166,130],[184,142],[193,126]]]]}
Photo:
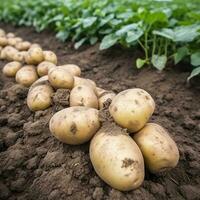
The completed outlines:
{"type": "Polygon", "coordinates": [[[40,47],[31,47],[25,56],[25,61],[27,64],[37,65],[43,60],[44,54],[40,47]]]}

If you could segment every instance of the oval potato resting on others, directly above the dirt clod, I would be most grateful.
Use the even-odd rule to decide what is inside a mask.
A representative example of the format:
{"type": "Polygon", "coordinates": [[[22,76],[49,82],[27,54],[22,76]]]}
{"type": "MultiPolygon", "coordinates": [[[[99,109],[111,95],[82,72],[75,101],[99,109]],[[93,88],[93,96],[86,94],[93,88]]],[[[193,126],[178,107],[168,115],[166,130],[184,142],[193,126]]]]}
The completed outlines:
{"type": "Polygon", "coordinates": [[[55,67],[48,71],[49,82],[54,88],[71,89],[74,85],[73,76],[64,68],[55,67]]]}

